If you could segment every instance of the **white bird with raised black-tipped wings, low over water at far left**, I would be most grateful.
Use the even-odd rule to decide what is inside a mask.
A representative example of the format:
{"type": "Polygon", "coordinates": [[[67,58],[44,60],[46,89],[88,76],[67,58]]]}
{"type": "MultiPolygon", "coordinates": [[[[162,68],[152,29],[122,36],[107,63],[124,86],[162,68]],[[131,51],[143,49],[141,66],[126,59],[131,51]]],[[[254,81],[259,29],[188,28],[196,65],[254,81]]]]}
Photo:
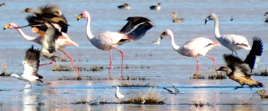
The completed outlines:
{"type": "Polygon", "coordinates": [[[24,80],[29,82],[32,87],[32,82],[42,82],[42,76],[38,75],[38,67],[39,67],[39,57],[40,50],[34,49],[34,46],[29,48],[25,54],[25,60],[22,62],[23,64],[23,73],[15,74],[11,73],[10,76],[13,76],[17,79],[24,80]]]}

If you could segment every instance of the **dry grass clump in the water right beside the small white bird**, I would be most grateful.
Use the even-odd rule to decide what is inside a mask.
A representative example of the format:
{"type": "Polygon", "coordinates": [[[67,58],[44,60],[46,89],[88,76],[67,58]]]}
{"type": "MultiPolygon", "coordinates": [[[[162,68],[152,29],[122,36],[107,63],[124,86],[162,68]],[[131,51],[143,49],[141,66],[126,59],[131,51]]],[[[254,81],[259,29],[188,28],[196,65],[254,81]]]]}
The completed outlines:
{"type": "Polygon", "coordinates": [[[122,100],[121,104],[165,104],[164,100],[159,98],[159,93],[155,94],[154,91],[148,91],[145,95],[139,93],[137,96],[129,97],[122,100]]]}

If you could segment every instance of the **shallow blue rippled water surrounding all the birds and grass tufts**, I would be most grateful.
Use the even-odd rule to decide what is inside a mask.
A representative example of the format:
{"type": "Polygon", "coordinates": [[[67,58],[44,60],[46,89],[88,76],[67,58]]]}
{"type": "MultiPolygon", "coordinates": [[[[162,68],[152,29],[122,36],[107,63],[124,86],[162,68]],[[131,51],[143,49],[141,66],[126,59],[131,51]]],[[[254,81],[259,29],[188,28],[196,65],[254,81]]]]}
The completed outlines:
{"type": "MultiPolygon", "coordinates": [[[[144,1],[133,0],[127,1],[131,5],[130,10],[117,9],[117,5],[121,5],[126,1],[113,0],[80,0],[73,2],[72,0],[4,0],[6,7],[0,7],[1,17],[0,26],[4,26],[10,22],[15,22],[22,26],[27,24],[25,17],[28,14],[20,12],[27,7],[36,9],[38,6],[53,3],[61,7],[62,12],[66,16],[68,23],[71,25],[68,35],[75,41],[79,47],[67,47],[68,52],[75,60],[76,65],[86,67],[92,66],[109,66],[109,51],[102,51],[94,46],[86,38],[85,26],[86,20],[80,19],[77,22],[77,16],[87,10],[91,14],[91,31],[94,35],[105,31],[118,31],[125,24],[128,16],[144,16],[151,19],[156,27],[153,27],[146,35],[131,43],[126,43],[118,48],[125,53],[124,65],[130,66],[124,69],[125,76],[146,76],[149,80],[126,80],[130,84],[151,84],[158,87],[151,90],[165,100],[166,105],[125,105],[125,104],[105,104],[105,105],[73,105],[70,103],[78,100],[90,101],[100,96],[100,101],[120,102],[115,98],[116,85],[120,85],[123,81],[120,79],[121,54],[113,50],[113,80],[58,80],[62,76],[73,77],[74,71],[55,72],[52,68],[56,64],[68,64],[70,62],[57,62],[52,65],[39,67],[38,74],[42,75],[42,79],[48,85],[33,85],[31,89],[19,91],[29,87],[27,82],[11,78],[0,77],[0,109],[6,110],[93,110],[93,111],[156,111],[156,110],[232,110],[232,111],[264,111],[267,108],[268,100],[261,99],[254,92],[263,88],[253,88],[245,86],[244,89],[233,90],[238,83],[230,80],[209,80],[209,79],[190,79],[195,73],[196,62],[194,58],[184,57],[175,52],[170,44],[170,38],[165,37],[161,40],[160,45],[151,44],[157,40],[165,29],[171,29],[175,36],[175,42],[183,45],[186,41],[196,37],[207,37],[216,41],[214,37],[214,22],[209,21],[207,25],[204,19],[211,13],[215,13],[219,18],[219,30],[224,34],[238,34],[248,38],[252,44],[252,37],[259,36],[264,42],[264,52],[256,71],[267,68],[268,56],[267,43],[268,24],[264,22],[267,12],[268,1],[263,0],[165,0],[144,1]],[[148,6],[161,2],[161,10],[149,10],[148,6]],[[109,4],[107,4],[109,2],[109,4]],[[107,4],[107,5],[106,5],[107,4]],[[177,11],[177,17],[183,17],[184,22],[172,23],[172,12],[177,11]],[[230,21],[233,15],[235,21],[230,21]],[[135,68],[136,67],[136,68],[135,68]],[[141,68],[144,67],[144,68],[141,68]],[[149,67],[149,68],[147,68],[149,67]],[[163,87],[173,89],[170,83],[174,84],[179,91],[178,95],[171,95],[164,91],[163,87]],[[193,101],[204,101],[213,104],[211,106],[195,107],[190,105],[193,101]],[[38,106],[38,102],[45,105],[38,106]]],[[[31,36],[37,36],[31,32],[30,28],[24,28],[23,31],[31,36]]],[[[6,63],[8,72],[22,72],[23,66],[20,65],[24,60],[25,50],[31,45],[40,48],[36,43],[24,40],[17,31],[6,29],[0,31],[0,63],[6,63]],[[12,40],[12,41],[11,41],[12,40]]],[[[214,57],[217,66],[225,65],[222,55],[231,51],[224,47],[213,48],[207,54],[214,57]]],[[[249,51],[237,51],[239,57],[245,59],[249,51]]],[[[61,55],[57,52],[56,54],[61,55]]],[[[66,58],[66,57],[65,57],[66,58]]],[[[41,60],[41,63],[48,63],[49,60],[41,60]]],[[[214,74],[213,63],[209,58],[200,57],[200,74],[205,77],[214,74]]],[[[224,74],[224,73],[223,73],[224,74]]],[[[86,76],[97,76],[100,78],[108,78],[108,69],[99,72],[82,71],[82,78],[86,76]]],[[[267,77],[256,77],[254,79],[268,84],[267,77]]],[[[120,92],[125,98],[134,94],[148,92],[148,87],[127,87],[120,88],[120,92]],[[134,93],[134,94],[131,94],[134,93]]]]}

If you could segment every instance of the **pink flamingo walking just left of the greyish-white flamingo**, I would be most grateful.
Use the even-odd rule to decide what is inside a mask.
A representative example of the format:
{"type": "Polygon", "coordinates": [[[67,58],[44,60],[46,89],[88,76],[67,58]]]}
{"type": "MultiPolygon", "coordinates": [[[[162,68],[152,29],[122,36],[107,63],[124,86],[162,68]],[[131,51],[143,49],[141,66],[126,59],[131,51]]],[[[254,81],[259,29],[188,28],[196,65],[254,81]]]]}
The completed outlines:
{"type": "MultiPolygon", "coordinates": [[[[174,42],[174,35],[173,35],[171,30],[167,29],[165,32],[163,32],[161,34],[161,39],[164,36],[171,37],[172,48],[175,51],[177,51],[179,54],[181,54],[183,56],[187,56],[187,57],[194,57],[196,59],[196,63],[197,63],[196,77],[198,77],[198,70],[199,70],[198,57],[200,55],[206,56],[206,57],[212,59],[214,66],[215,66],[215,70],[217,69],[215,59],[211,56],[206,55],[206,53],[214,47],[220,47],[221,45],[219,43],[213,42],[212,40],[204,38],[204,37],[200,37],[200,38],[195,38],[195,39],[192,39],[192,40],[186,42],[185,45],[183,45],[183,47],[179,47],[174,42]]],[[[217,71],[216,71],[216,73],[217,73],[217,71]]]]}

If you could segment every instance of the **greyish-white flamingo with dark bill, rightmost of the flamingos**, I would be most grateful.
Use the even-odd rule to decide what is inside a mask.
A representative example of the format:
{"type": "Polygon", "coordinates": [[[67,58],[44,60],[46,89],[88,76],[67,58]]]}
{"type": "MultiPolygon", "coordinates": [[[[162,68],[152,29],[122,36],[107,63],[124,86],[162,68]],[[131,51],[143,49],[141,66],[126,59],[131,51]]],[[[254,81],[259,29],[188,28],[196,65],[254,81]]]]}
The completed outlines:
{"type": "Polygon", "coordinates": [[[237,55],[237,53],[235,52],[235,50],[239,50],[239,49],[246,49],[249,50],[251,49],[248,43],[247,38],[245,38],[244,36],[241,35],[234,35],[234,34],[230,34],[230,35],[220,35],[219,32],[219,22],[218,22],[218,17],[215,14],[211,14],[210,16],[208,16],[205,19],[205,24],[207,24],[208,20],[214,20],[214,34],[216,39],[226,48],[229,48],[233,52],[237,55]]]}

